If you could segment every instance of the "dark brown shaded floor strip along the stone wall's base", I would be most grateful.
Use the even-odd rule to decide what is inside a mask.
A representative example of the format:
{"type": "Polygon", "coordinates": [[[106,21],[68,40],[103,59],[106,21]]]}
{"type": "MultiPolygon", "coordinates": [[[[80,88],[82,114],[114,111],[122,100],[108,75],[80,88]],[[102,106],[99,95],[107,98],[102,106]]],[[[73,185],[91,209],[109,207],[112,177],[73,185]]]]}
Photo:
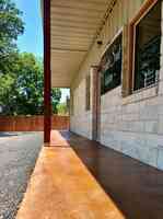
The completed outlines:
{"type": "Polygon", "coordinates": [[[163,218],[163,172],[95,141],[62,131],[126,219],[163,218]]]}

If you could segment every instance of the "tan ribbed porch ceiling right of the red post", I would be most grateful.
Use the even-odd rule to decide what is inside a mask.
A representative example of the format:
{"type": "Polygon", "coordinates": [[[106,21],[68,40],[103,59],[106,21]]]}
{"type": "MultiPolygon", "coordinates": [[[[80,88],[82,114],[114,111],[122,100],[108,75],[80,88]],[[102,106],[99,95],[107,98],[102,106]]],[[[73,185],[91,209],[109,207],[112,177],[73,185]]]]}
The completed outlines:
{"type": "Polygon", "coordinates": [[[112,0],[51,0],[51,83],[69,88],[112,0]]]}

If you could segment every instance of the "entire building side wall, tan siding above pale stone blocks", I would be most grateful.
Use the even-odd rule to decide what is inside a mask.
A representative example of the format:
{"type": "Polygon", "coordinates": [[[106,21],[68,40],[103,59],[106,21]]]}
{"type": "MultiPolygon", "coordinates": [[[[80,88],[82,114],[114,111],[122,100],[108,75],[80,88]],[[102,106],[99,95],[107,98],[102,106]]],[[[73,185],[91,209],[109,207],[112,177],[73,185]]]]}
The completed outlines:
{"type": "MultiPolygon", "coordinates": [[[[107,44],[126,23],[133,19],[143,2],[143,0],[118,1],[102,30],[101,36],[104,42],[102,48],[97,48],[94,44],[80,71],[77,72],[72,84],[74,94],[72,131],[92,137],[92,111],[85,112],[85,76],[91,65],[98,65],[107,44]]],[[[159,83],[127,97],[121,96],[121,87],[107,92],[101,96],[100,116],[102,145],[163,170],[163,34],[159,83]]]]}

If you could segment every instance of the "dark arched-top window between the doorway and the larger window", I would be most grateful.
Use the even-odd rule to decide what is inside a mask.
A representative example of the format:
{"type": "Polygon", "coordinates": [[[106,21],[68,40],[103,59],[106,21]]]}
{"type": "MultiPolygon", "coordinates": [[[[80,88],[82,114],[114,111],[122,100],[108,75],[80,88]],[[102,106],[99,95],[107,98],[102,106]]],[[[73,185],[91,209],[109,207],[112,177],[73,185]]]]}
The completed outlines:
{"type": "Polygon", "coordinates": [[[101,60],[101,94],[121,83],[121,34],[104,54],[101,60]]]}

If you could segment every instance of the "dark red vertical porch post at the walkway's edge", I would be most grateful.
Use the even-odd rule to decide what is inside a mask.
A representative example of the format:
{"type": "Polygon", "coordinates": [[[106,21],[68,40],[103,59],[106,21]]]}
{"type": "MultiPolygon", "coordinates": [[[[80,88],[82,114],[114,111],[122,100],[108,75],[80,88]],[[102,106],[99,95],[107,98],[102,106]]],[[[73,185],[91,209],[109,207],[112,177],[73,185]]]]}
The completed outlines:
{"type": "Polygon", "coordinates": [[[44,0],[44,142],[49,146],[51,130],[50,0],[44,0]]]}

